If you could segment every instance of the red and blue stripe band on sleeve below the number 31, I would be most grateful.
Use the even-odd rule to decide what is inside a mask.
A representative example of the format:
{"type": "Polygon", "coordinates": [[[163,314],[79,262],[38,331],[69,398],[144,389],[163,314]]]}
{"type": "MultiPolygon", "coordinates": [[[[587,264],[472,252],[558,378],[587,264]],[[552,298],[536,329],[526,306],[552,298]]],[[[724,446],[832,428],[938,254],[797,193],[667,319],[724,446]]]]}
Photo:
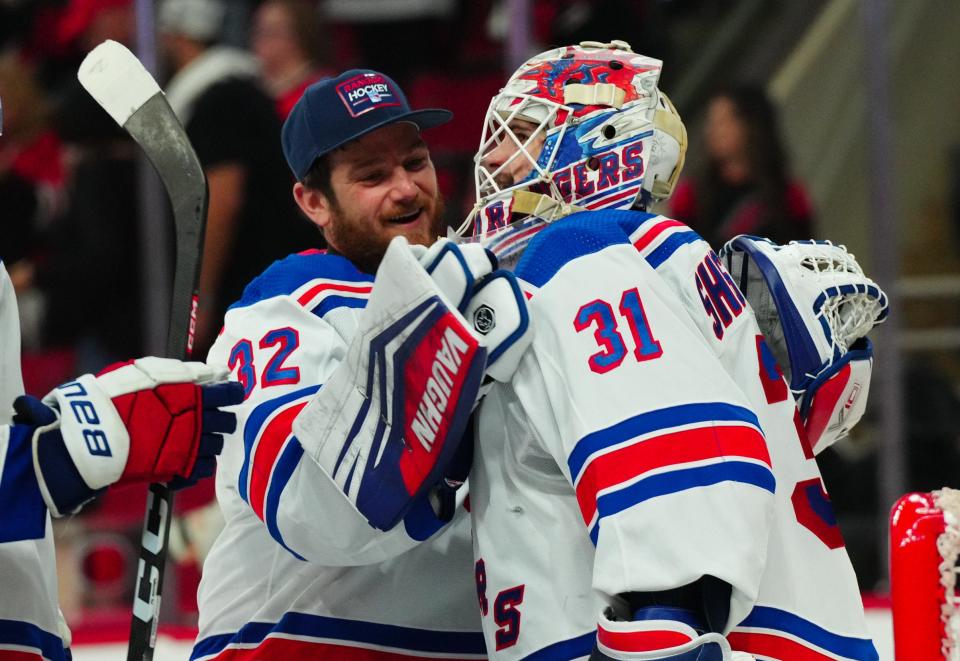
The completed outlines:
{"type": "Polygon", "coordinates": [[[733,481],[775,490],[756,415],[722,402],[649,411],[587,434],[567,460],[594,543],[600,520],[642,502],[733,481]]]}

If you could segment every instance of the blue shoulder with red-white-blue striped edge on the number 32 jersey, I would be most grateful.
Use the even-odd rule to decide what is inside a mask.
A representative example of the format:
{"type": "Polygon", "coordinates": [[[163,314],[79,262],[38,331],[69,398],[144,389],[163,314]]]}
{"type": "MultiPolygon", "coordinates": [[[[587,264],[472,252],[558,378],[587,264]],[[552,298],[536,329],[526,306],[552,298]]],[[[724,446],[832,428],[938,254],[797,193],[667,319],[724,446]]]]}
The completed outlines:
{"type": "Polygon", "coordinates": [[[372,286],[373,276],[345,257],[308,250],[271,264],[247,285],[230,310],[288,297],[322,317],[336,308],[366,306],[372,286]]]}

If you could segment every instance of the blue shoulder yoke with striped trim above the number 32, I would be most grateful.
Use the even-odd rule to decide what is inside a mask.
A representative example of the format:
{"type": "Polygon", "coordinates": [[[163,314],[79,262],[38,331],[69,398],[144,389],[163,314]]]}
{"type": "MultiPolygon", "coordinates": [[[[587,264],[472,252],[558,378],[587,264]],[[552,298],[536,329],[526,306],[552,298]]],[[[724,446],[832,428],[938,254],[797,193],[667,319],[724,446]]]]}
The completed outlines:
{"type": "Polygon", "coordinates": [[[315,298],[321,289],[363,289],[369,293],[372,283],[372,275],[358,270],[345,257],[310,250],[275,261],[247,285],[230,309],[286,295],[294,295],[302,305],[312,307],[308,305],[311,301],[300,299],[315,298]]]}

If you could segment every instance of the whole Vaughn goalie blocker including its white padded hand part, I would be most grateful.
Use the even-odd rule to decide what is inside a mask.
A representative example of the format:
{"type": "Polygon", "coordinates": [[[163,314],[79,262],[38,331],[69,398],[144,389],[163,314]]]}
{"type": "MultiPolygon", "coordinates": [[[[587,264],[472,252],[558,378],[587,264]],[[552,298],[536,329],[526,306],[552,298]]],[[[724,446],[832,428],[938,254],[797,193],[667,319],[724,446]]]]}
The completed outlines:
{"type": "Polygon", "coordinates": [[[496,266],[477,244],[393,239],[346,357],[294,421],[304,451],[376,528],[442,484],[484,381],[508,380],[530,344],[523,293],[496,266]]]}

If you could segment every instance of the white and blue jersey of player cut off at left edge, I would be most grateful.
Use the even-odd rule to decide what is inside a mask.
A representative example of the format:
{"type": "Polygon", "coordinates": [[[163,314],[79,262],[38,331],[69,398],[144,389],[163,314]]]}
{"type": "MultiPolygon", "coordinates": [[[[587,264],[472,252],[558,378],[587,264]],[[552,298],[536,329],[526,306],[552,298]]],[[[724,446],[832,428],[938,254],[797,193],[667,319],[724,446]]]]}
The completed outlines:
{"type": "Polygon", "coordinates": [[[20,375],[20,324],[0,262],[0,658],[66,659],[69,630],[57,606],[50,514],[40,497],[30,439],[8,426],[20,375]]]}

